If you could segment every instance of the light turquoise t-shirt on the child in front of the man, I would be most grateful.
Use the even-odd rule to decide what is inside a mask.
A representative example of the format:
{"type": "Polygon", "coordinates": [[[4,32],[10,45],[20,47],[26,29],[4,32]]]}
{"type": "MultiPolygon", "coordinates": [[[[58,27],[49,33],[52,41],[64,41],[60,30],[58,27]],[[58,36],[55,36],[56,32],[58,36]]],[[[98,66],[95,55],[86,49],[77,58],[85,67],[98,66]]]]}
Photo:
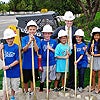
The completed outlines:
{"type": "MultiPolygon", "coordinates": [[[[55,57],[66,56],[67,51],[71,54],[69,45],[67,43],[65,45],[59,43],[55,49],[55,57]]],[[[56,59],[56,72],[65,72],[65,68],[67,68],[66,71],[68,72],[69,66],[66,66],[66,59],[56,59]]]]}

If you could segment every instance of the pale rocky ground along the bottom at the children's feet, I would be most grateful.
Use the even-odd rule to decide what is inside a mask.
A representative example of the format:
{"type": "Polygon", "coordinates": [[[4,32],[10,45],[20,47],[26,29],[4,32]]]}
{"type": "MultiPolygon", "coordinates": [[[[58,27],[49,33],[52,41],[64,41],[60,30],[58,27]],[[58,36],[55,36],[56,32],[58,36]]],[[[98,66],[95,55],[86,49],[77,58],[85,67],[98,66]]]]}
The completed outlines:
{"type": "MultiPolygon", "coordinates": [[[[0,91],[0,100],[2,100],[3,92],[0,91]]],[[[35,100],[34,95],[25,95],[22,90],[19,89],[16,93],[16,100],[35,100]]],[[[37,100],[47,100],[46,99],[46,89],[43,92],[39,92],[39,88],[36,88],[37,100]]],[[[95,94],[94,92],[88,92],[88,87],[84,89],[82,93],[77,91],[77,97],[74,96],[74,90],[68,90],[65,95],[64,92],[49,92],[49,100],[100,100],[100,94],[95,94]]]]}

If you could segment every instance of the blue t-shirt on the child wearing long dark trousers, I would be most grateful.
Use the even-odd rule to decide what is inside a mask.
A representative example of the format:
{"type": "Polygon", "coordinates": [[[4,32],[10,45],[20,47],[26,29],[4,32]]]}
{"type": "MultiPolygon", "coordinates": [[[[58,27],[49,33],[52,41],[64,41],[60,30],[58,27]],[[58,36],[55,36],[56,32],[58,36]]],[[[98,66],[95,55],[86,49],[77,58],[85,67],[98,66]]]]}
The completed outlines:
{"type": "Polygon", "coordinates": [[[86,45],[84,43],[76,44],[76,60],[83,55],[82,59],[78,62],[77,67],[86,68],[88,65],[88,59],[86,55],[86,51],[83,50],[83,47],[86,45]]]}

